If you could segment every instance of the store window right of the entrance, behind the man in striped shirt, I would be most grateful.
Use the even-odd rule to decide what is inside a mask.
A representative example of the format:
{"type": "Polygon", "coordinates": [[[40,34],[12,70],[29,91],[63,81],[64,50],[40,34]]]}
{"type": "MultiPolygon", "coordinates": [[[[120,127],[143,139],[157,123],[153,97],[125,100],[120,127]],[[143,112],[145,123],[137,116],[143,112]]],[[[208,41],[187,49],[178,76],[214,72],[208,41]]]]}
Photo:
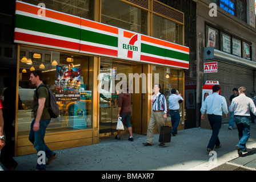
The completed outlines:
{"type": "MultiPolygon", "coordinates": [[[[159,67],[159,66],[153,65],[153,71],[152,71],[153,83],[152,83],[152,85],[158,84],[155,81],[158,81],[158,79],[159,79],[159,84],[161,85],[160,92],[165,95],[168,109],[169,109],[168,98],[171,95],[171,89],[178,90],[179,94],[181,94],[181,96],[184,99],[182,72],[183,71],[179,70],[179,69],[171,69],[171,68],[167,68],[167,67],[159,67]]],[[[183,110],[183,105],[180,104],[179,112],[181,114],[181,118],[183,115],[182,110],[183,110]]],[[[171,120],[170,115],[167,114],[167,121],[170,121],[170,120],[171,120]]]]}

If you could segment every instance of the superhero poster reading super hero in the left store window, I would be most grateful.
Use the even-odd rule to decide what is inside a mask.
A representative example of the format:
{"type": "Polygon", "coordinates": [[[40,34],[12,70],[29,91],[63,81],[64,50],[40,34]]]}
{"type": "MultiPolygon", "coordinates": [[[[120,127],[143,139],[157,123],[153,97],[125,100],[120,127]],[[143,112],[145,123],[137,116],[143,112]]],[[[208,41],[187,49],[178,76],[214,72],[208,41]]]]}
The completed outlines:
{"type": "Polygon", "coordinates": [[[55,75],[55,98],[57,101],[77,101],[80,100],[81,88],[80,68],[74,68],[73,64],[56,66],[55,75]]]}

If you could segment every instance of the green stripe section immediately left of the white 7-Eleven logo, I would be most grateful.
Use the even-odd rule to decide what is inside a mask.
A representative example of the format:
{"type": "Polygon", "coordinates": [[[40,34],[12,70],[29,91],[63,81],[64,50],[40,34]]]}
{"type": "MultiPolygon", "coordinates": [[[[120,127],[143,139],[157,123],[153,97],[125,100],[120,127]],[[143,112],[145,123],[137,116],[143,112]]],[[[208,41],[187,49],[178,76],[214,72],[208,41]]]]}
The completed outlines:
{"type": "Polygon", "coordinates": [[[81,40],[91,43],[104,44],[106,46],[118,47],[118,38],[116,36],[101,34],[89,30],[81,29],[81,40]]]}

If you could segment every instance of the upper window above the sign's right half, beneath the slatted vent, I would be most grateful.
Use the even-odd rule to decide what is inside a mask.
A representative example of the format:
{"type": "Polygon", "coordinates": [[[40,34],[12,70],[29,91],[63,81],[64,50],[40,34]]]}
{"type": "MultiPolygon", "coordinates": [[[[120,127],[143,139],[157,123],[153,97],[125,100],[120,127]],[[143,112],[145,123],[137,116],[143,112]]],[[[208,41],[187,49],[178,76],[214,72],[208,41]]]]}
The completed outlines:
{"type": "Polygon", "coordinates": [[[153,14],[153,37],[183,44],[181,25],[155,14],[153,14]]]}

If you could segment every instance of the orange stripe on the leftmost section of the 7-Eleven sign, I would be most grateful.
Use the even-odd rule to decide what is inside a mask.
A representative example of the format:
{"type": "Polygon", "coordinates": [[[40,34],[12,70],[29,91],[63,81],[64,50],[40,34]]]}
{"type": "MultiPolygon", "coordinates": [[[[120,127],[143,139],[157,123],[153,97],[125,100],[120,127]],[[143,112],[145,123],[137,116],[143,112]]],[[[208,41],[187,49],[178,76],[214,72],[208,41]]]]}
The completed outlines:
{"type": "MultiPolygon", "coordinates": [[[[23,12],[26,12],[26,13],[31,13],[31,14],[38,15],[38,10],[40,10],[40,9],[41,8],[39,8],[37,6],[27,5],[27,4],[22,3],[22,2],[17,2],[16,3],[16,10],[23,11],[23,12]]],[[[39,11],[39,13],[41,13],[41,11],[39,11]]],[[[74,23],[74,24],[81,24],[81,19],[79,17],[58,13],[56,11],[51,11],[51,10],[48,10],[48,9],[45,10],[45,16],[47,18],[58,19],[58,20],[62,20],[64,22],[69,22],[69,23],[74,23]]]]}

